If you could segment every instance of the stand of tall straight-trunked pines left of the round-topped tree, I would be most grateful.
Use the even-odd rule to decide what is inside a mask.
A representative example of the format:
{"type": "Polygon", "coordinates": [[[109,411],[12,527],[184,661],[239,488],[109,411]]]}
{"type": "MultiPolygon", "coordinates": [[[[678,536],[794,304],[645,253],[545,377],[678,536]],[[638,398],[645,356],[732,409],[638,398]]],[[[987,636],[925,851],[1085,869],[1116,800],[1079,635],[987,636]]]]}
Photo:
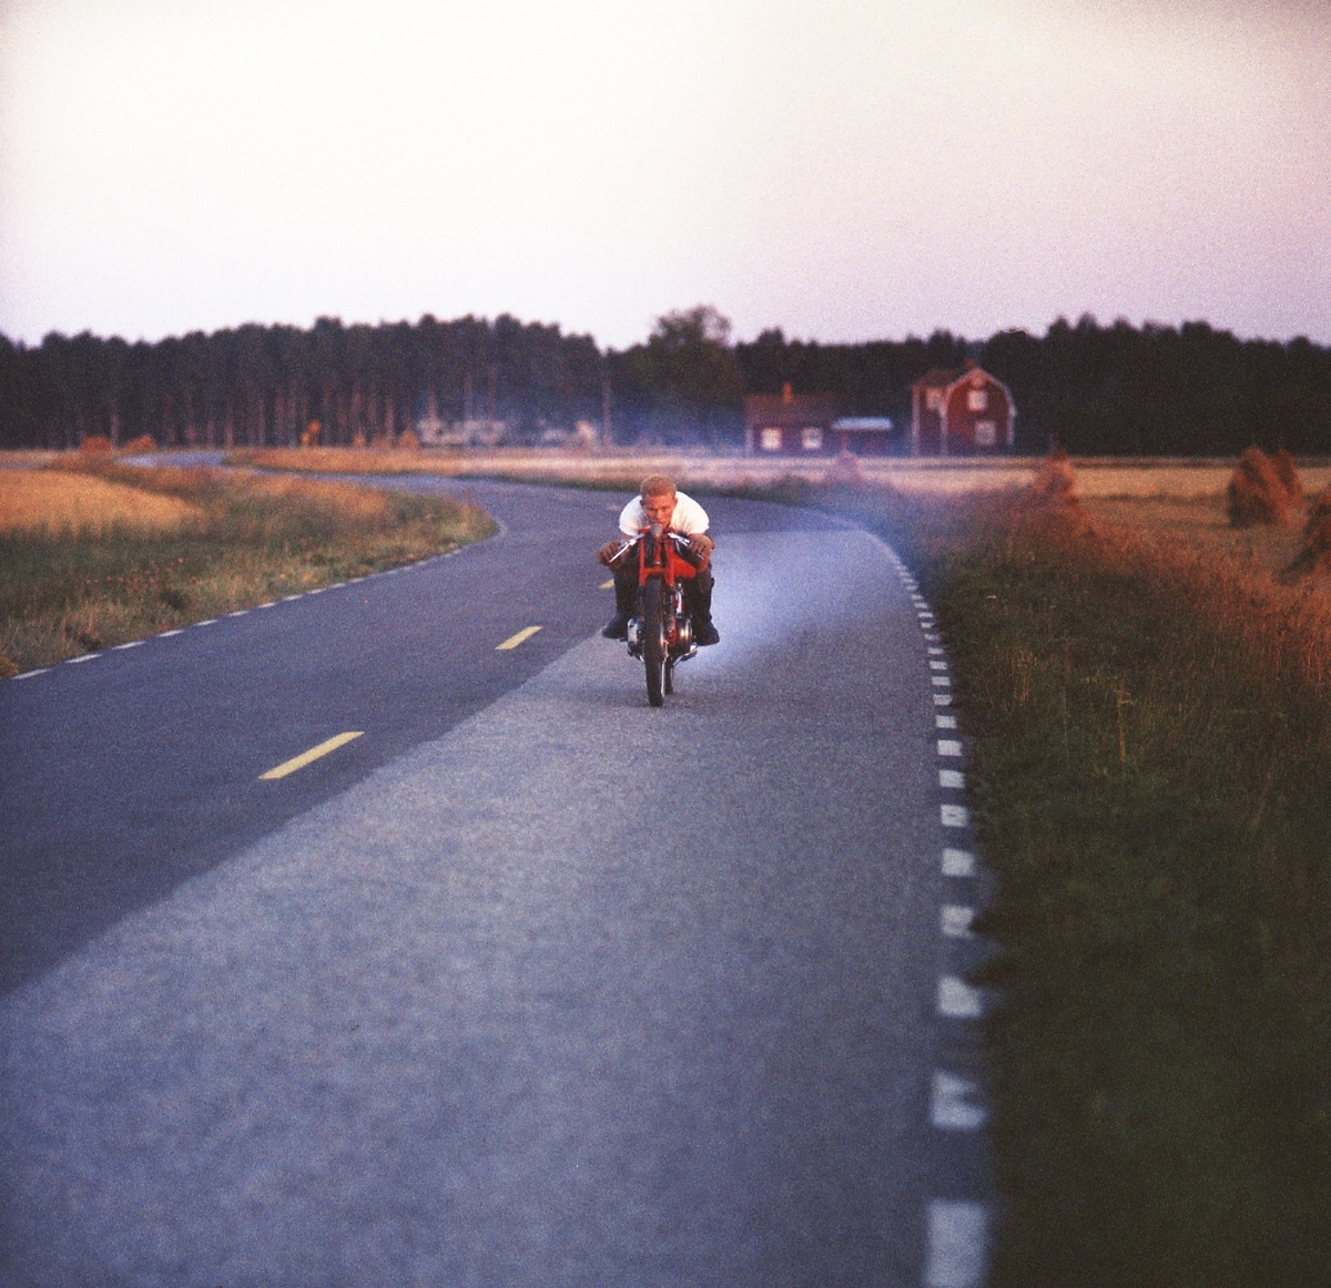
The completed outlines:
{"type": "Polygon", "coordinates": [[[590,335],[502,315],[309,330],[241,326],[157,343],[84,333],[27,349],[0,337],[0,444],[285,446],[394,439],[422,419],[504,422],[515,435],[600,415],[590,335]]]}

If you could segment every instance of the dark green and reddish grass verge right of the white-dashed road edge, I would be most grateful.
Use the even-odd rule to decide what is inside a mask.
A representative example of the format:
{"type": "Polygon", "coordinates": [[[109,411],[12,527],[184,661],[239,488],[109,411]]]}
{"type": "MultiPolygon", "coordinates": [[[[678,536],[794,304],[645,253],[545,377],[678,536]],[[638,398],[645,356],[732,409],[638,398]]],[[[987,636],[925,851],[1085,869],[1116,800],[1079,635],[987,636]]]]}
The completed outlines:
{"type": "Polygon", "coordinates": [[[1331,601],[1013,496],[829,503],[921,575],[998,878],[992,1283],[1326,1283],[1331,601]]]}

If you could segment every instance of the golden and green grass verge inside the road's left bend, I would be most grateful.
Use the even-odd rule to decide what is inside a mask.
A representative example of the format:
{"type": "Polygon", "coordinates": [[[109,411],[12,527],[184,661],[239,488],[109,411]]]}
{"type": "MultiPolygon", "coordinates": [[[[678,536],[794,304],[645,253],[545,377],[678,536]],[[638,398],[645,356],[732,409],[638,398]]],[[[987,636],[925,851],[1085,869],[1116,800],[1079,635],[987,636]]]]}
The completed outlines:
{"type": "Polygon", "coordinates": [[[0,675],[411,563],[478,506],[297,478],[69,463],[0,475],[0,675]]]}

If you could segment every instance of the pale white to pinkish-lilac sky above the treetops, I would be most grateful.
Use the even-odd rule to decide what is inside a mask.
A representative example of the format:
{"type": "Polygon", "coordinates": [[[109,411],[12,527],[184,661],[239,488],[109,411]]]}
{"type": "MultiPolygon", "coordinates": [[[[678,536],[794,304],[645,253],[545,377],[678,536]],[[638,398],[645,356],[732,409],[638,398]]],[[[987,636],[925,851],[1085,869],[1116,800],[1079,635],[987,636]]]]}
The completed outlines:
{"type": "Polygon", "coordinates": [[[1328,0],[0,0],[0,331],[1331,342],[1328,0]]]}

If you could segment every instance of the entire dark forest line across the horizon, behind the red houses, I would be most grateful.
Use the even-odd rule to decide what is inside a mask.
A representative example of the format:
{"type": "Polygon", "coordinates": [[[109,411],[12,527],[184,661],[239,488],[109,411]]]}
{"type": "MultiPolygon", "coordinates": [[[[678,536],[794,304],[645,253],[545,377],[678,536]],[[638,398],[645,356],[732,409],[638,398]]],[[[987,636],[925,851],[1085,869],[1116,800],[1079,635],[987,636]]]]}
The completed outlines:
{"type": "MultiPolygon", "coordinates": [[[[969,358],[1009,386],[1017,451],[1078,455],[1331,454],[1331,349],[1299,338],[1242,341],[1205,322],[1179,329],[1059,318],[1032,335],[821,345],[765,330],[735,343],[699,306],[658,319],[626,350],[556,325],[459,318],[309,330],[242,326],[157,343],[91,334],[40,346],[0,335],[0,446],[161,446],[391,439],[423,420],[499,423],[511,442],[558,436],[578,422],[615,442],[736,446],[745,393],[835,394],[844,415],[888,415],[905,431],[910,386],[969,358]]],[[[901,432],[902,450],[908,434],[901,432]]]]}

